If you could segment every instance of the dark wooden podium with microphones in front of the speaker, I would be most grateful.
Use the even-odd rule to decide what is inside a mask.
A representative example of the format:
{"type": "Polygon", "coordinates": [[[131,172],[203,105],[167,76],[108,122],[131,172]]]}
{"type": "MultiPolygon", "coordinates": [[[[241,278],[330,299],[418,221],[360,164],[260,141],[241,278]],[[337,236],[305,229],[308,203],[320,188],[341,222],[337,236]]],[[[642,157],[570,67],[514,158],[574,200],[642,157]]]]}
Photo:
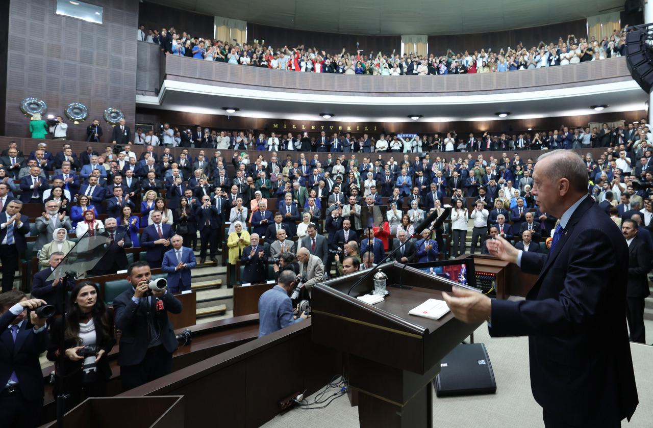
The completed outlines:
{"type": "Polygon", "coordinates": [[[347,295],[366,271],[313,287],[312,340],[348,354],[347,375],[349,387],[358,393],[360,427],[432,427],[431,381],[440,360],[480,323],[464,324],[451,313],[439,320],[409,315],[427,299],[441,299],[441,292],[456,283],[398,262],[375,271],[379,269],[388,276],[390,294],[376,305],[356,298],[374,290],[372,277],[347,295]],[[400,283],[411,288],[391,286],[400,283]]]}

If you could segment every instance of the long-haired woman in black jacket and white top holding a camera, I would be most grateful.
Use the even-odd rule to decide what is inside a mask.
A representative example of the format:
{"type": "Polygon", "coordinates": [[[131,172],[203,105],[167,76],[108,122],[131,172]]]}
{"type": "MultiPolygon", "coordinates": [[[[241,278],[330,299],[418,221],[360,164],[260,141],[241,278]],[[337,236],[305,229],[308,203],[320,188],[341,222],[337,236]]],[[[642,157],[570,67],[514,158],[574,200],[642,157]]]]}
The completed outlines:
{"type": "Polygon", "coordinates": [[[70,394],[65,403],[69,410],[88,397],[106,395],[111,377],[108,353],[116,339],[112,312],[104,306],[97,285],[90,281],[75,285],[67,306],[65,331],[61,318],[50,328],[48,359],[55,363],[54,395],[70,394]]]}

